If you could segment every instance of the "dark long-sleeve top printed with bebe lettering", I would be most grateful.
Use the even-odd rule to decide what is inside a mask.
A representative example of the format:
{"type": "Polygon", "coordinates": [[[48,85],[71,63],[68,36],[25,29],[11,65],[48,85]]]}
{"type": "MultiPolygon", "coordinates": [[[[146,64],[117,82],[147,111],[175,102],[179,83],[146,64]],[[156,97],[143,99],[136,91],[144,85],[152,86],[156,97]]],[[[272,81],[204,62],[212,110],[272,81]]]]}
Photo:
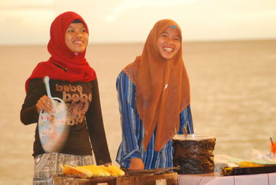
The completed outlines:
{"type": "MultiPolygon", "coordinates": [[[[97,79],[74,83],[50,79],[49,84],[52,97],[63,99],[68,114],[70,113],[67,118],[67,123],[70,124],[70,133],[60,153],[92,155],[93,149],[98,165],[111,162],[103,127],[97,79]]],[[[31,79],[21,108],[23,124],[38,122],[39,114],[35,104],[43,95],[47,95],[43,79],[31,79]]],[[[35,130],[33,150],[34,157],[46,153],[41,146],[38,126],[35,130]]]]}

